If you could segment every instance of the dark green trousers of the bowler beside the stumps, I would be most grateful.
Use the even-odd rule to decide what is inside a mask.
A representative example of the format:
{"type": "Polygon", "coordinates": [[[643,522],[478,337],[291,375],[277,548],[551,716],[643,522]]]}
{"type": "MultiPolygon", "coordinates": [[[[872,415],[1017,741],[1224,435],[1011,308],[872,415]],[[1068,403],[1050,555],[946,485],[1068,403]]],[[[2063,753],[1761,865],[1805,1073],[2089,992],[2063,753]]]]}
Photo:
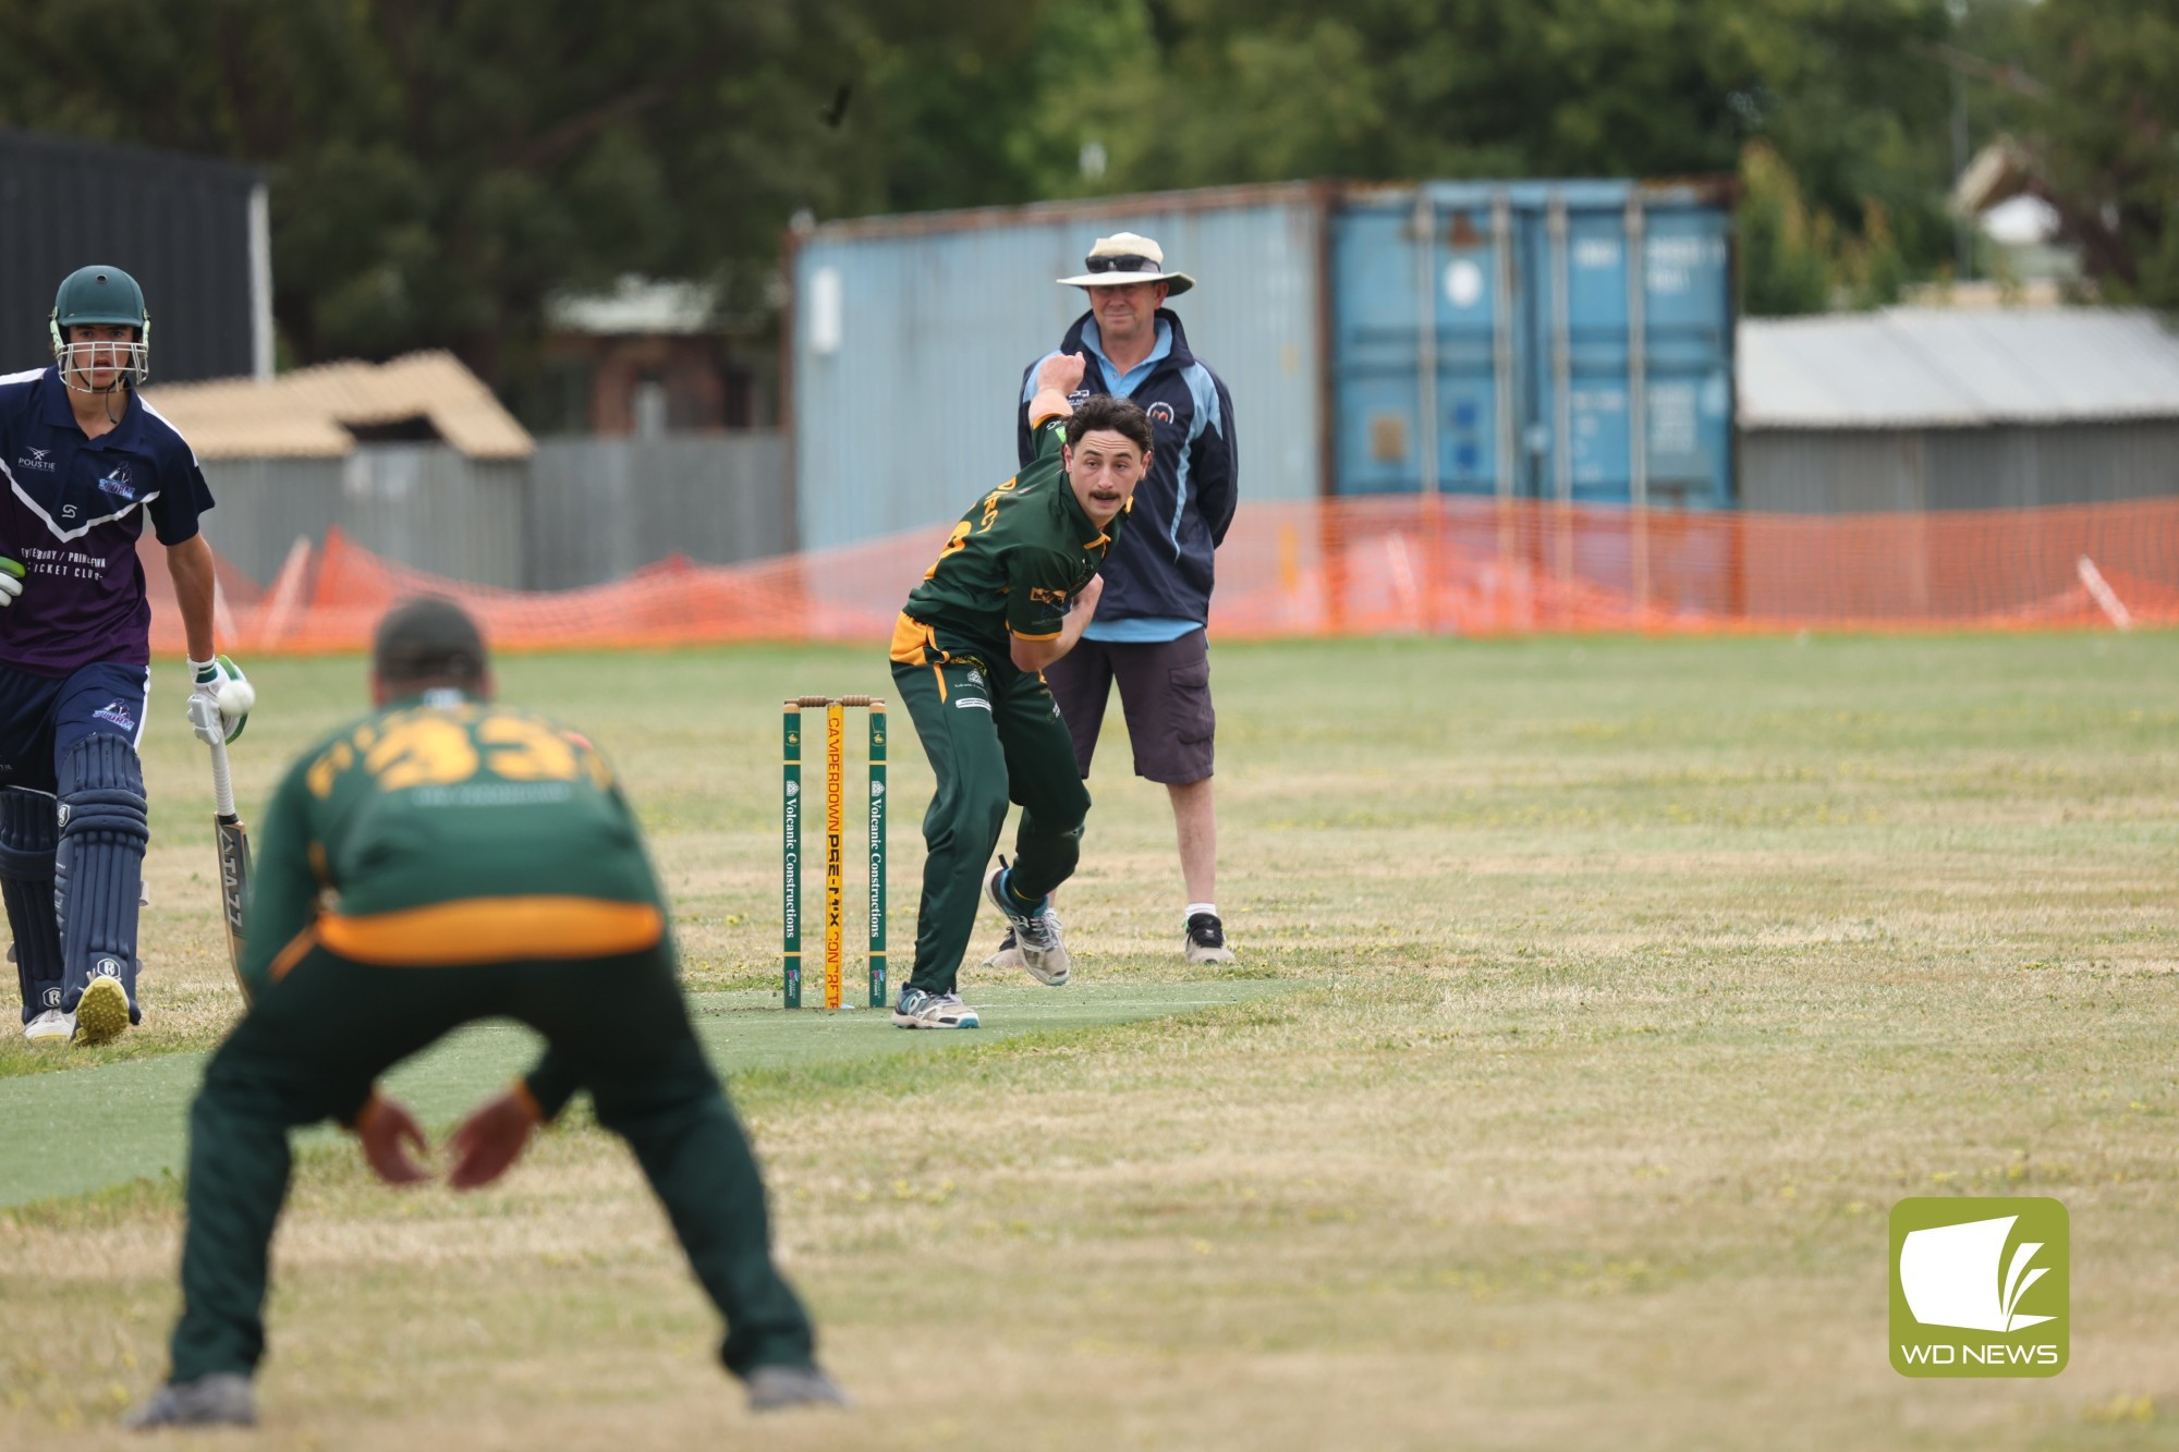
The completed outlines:
{"type": "Polygon", "coordinates": [[[1013,885],[1024,898],[1042,898],[1074,874],[1090,787],[1044,676],[974,661],[896,663],[893,685],[939,778],[924,813],[924,896],[909,985],[950,994],[976,933],[1007,802],[1022,804],[1013,885]]]}

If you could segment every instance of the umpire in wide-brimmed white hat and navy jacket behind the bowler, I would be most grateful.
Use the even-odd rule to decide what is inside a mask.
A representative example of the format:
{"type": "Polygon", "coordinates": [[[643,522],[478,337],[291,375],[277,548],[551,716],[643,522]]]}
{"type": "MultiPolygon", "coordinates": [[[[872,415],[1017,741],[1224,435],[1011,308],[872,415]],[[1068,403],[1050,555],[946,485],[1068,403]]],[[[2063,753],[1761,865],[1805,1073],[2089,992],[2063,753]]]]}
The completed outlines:
{"type": "MultiPolygon", "coordinates": [[[[1233,953],[1218,916],[1218,813],[1212,804],[1212,663],[1205,621],[1212,608],[1212,556],[1233,523],[1233,399],[1188,347],[1166,299],[1196,286],[1168,273],[1151,238],[1122,231],[1098,238],[1079,277],[1090,312],[1074,320],[1057,353],[1085,353],[1081,390],[1133,399],[1157,434],[1151,471],[1135,488],[1133,517],[1105,562],[1105,595],[1081,645],[1044,671],[1074,735],[1074,761],[1090,776],[1105,700],[1120,682],[1120,709],[1135,750],[1135,776],[1164,783],[1181,844],[1188,890],[1181,951],[1192,964],[1227,964],[1233,953]]],[[[1028,399],[1037,366],[1022,375],[1018,451],[1035,458],[1028,399]]],[[[1013,940],[991,961],[1007,961],[1013,940]]]]}

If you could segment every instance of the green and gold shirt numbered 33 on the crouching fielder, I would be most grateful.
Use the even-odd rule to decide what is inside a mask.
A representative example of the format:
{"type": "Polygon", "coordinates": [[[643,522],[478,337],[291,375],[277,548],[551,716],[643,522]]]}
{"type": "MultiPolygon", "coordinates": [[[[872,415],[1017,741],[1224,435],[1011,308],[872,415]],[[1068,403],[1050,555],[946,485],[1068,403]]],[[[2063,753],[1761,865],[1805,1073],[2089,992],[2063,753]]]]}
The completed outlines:
{"type": "Polygon", "coordinates": [[[388,966],[636,953],[665,900],[597,750],[553,722],[431,691],[290,767],[259,833],[242,975],[312,946],[388,966]]]}

